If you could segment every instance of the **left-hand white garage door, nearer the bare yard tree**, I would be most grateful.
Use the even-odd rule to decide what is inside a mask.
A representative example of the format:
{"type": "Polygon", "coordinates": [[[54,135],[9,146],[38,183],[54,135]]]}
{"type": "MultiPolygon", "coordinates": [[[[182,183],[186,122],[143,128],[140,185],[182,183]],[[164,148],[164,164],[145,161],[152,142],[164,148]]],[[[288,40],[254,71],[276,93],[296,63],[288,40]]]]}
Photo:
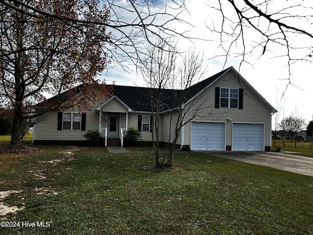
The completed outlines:
{"type": "Polygon", "coordinates": [[[224,123],[192,122],[192,150],[225,150],[224,123]]]}

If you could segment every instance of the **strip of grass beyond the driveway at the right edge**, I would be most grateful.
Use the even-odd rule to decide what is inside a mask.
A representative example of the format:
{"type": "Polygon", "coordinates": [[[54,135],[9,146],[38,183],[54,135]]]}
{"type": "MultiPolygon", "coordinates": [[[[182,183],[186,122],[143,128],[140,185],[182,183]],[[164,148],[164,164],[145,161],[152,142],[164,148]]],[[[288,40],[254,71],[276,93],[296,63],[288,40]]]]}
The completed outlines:
{"type": "Polygon", "coordinates": [[[290,152],[298,152],[301,153],[302,156],[313,157],[313,149],[310,148],[310,142],[297,142],[297,147],[294,147],[294,142],[292,141],[285,141],[285,146],[281,140],[276,140],[275,145],[274,141],[272,141],[271,149],[277,149],[277,147],[281,147],[283,151],[290,151],[290,152]]]}

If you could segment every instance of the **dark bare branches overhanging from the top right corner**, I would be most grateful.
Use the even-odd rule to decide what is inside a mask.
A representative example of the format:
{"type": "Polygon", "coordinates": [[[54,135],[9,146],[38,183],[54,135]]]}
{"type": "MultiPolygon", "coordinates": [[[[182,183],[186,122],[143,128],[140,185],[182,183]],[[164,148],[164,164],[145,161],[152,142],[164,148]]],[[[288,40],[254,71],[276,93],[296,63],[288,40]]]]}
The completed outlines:
{"type": "MultiPolygon", "coordinates": [[[[292,84],[292,66],[313,61],[313,2],[311,0],[207,0],[215,19],[204,20],[220,37],[217,56],[234,55],[252,65],[264,54],[286,59],[292,84]]],[[[296,68],[296,67],[295,67],[296,68]]],[[[287,87],[288,87],[287,85],[287,87]]],[[[287,89],[286,87],[286,89],[287,89]]]]}

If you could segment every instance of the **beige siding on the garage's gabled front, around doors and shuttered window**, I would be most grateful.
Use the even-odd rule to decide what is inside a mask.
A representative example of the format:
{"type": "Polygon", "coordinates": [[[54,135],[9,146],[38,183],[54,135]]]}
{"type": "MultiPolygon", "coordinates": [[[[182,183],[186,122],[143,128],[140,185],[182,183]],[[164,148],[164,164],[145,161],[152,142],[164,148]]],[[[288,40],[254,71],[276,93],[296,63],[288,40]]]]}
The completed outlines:
{"type": "MultiPolygon", "coordinates": [[[[236,76],[233,72],[228,72],[215,84],[212,84],[203,92],[203,94],[201,94],[201,97],[197,102],[201,103],[203,99],[207,98],[209,98],[209,101],[206,101],[206,106],[210,107],[207,109],[207,112],[212,112],[212,116],[210,118],[199,118],[197,121],[226,122],[226,145],[232,145],[232,123],[264,124],[265,146],[271,145],[271,110],[268,109],[264,102],[256,94],[254,94],[249,87],[247,87],[243,82],[240,83],[238,76],[236,76]],[[243,109],[215,109],[215,87],[243,88],[243,109]],[[232,120],[227,121],[227,118],[231,118],[232,120]]],[[[197,105],[195,107],[197,107],[197,105]]],[[[188,108],[188,106],[186,108],[188,108]]],[[[184,127],[184,144],[190,145],[190,130],[191,128],[189,123],[184,127]]]]}

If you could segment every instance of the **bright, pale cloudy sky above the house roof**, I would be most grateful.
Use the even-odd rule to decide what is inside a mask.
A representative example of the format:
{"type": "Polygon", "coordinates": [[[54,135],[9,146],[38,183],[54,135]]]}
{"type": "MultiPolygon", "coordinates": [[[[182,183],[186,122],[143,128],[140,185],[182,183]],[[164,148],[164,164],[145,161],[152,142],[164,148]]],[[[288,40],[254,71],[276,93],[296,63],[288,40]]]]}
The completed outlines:
{"type": "MultiPolygon", "coordinates": [[[[127,4],[126,0],[122,1],[127,4]]],[[[289,72],[286,57],[280,57],[281,51],[284,48],[267,47],[268,50],[262,55],[259,47],[255,47],[258,40],[255,32],[251,31],[250,35],[246,36],[246,46],[255,47],[253,54],[246,56],[248,63],[241,63],[242,58],[236,54],[242,47],[233,47],[231,56],[216,57],[223,53],[220,46],[220,35],[212,33],[207,26],[214,24],[215,27],[221,23],[220,14],[209,8],[204,0],[186,0],[186,8],[188,12],[183,12],[179,18],[187,23],[175,23],[172,26],[175,31],[186,31],[186,35],[193,38],[205,40],[186,40],[178,38],[178,46],[182,51],[188,51],[190,48],[203,53],[203,66],[207,66],[208,70],[201,79],[210,77],[224,69],[232,66],[237,70],[250,85],[261,94],[276,110],[280,111],[277,114],[278,120],[291,115],[304,118],[307,123],[313,119],[313,82],[312,82],[312,66],[310,62],[302,61],[295,63],[291,67],[291,80],[289,83],[289,72]],[[195,4],[197,2],[197,4],[195,4]],[[261,55],[261,56],[260,56],[261,55]],[[284,96],[282,97],[282,94],[284,96]]],[[[223,1],[222,1],[223,2],[223,1]]],[[[291,2],[291,1],[289,1],[291,2]]],[[[164,10],[164,4],[169,8],[170,0],[154,0],[150,1],[151,11],[164,10]]],[[[308,3],[309,4],[309,3],[308,3]]],[[[309,13],[310,14],[310,13],[309,13]]],[[[313,14],[311,14],[313,15],[313,14]]],[[[124,21],[131,21],[131,16],[125,16],[124,21]]],[[[161,19],[160,19],[161,21],[161,19]]],[[[260,27],[269,27],[267,23],[259,22],[260,27]]],[[[312,27],[312,26],[311,26],[312,27]]],[[[249,31],[248,31],[249,32],[249,31]]],[[[113,32],[114,33],[114,32],[113,32]]],[[[301,38],[295,38],[294,44],[301,44],[301,38]]],[[[305,42],[310,45],[313,42],[305,42]]],[[[268,45],[267,45],[268,46],[268,45]]],[[[270,46],[270,45],[269,45],[270,46]]],[[[309,46],[310,47],[310,46],[309,46]]],[[[261,50],[263,47],[261,47],[261,50]]],[[[284,53],[284,51],[282,52],[284,53]]],[[[293,52],[294,53],[294,52],[293,52]]],[[[296,52],[297,53],[297,52],[296,52]]],[[[299,56],[302,53],[299,49],[299,56]]],[[[125,58],[123,58],[125,60],[125,58]]],[[[145,83],[140,74],[137,74],[136,67],[132,65],[131,61],[125,61],[128,66],[128,71],[123,70],[117,64],[112,64],[113,68],[109,68],[101,74],[101,79],[105,79],[107,84],[126,85],[126,86],[145,86],[145,83]]],[[[275,116],[272,118],[274,125],[275,116]]]]}

